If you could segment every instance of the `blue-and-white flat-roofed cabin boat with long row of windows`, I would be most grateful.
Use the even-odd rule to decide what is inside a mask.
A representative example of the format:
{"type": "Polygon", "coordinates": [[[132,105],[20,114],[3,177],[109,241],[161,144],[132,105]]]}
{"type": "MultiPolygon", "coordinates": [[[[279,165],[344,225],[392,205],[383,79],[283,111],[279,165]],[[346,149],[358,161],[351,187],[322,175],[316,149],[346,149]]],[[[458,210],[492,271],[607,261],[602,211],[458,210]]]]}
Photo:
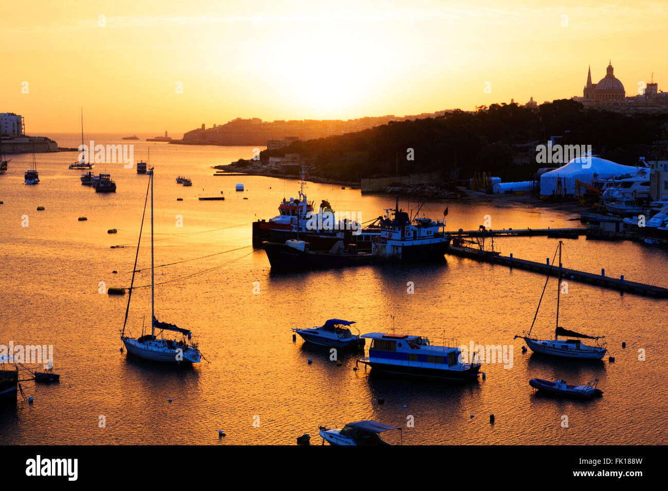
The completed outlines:
{"type": "Polygon", "coordinates": [[[456,342],[450,347],[445,342],[433,345],[422,336],[367,333],[362,337],[371,339],[371,346],[369,355],[358,361],[372,370],[456,381],[477,379],[480,373],[480,363],[464,360],[456,342]]]}

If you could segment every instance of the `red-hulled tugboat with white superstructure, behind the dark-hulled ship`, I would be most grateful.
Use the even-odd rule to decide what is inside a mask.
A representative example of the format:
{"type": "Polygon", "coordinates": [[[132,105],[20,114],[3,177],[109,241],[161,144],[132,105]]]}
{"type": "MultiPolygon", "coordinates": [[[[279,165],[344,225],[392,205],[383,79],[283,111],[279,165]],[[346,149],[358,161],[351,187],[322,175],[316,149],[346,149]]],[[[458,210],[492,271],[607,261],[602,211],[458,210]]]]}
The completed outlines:
{"type": "Polygon", "coordinates": [[[253,222],[253,247],[259,249],[265,247],[265,242],[285,244],[287,240],[301,238],[309,242],[311,251],[329,251],[339,240],[357,245],[359,251],[370,251],[371,239],[380,233],[379,227],[371,224],[363,228],[347,218],[336,222],[327,200],[323,200],[318,212],[314,213],[313,201],[304,194],[306,171],[306,166],[302,166],[297,199],[283,198],[279,215],[253,222]]]}

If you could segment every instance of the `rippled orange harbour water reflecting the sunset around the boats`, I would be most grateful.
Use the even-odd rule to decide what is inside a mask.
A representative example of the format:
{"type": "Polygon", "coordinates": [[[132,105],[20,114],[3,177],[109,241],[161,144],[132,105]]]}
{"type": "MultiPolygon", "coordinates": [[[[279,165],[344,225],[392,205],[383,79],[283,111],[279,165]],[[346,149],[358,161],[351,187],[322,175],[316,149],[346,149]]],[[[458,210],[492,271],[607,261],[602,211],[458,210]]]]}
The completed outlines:
{"type": "MultiPolygon", "coordinates": [[[[61,146],[77,144],[76,136],[56,139],[61,146]]],[[[96,140],[106,144],[112,137],[96,140]]],[[[145,159],[148,144],[134,144],[136,160],[145,159]]],[[[192,329],[210,363],[174,368],[126,357],[119,351],[118,331],[127,296],[98,294],[100,281],[130,285],[148,177],[110,164],[118,192],[100,195],[81,186],[81,172],[67,170],[75,154],[38,154],[41,182],[24,186],[31,156],[13,156],[9,172],[0,176],[2,343],[52,344],[61,382],[23,383],[27,395],[35,397],[32,405],[3,401],[0,442],[292,444],[309,433],[319,443],[318,424],[361,419],[403,426],[405,444],[667,442],[662,430],[668,423],[664,300],[571,282],[562,296],[560,325],[605,333],[617,361],[577,363],[523,354],[522,343],[512,337],[530,326],[544,285],[541,275],[456,257],[443,265],[272,274],[264,253],[249,247],[251,222],[275,216],[283,196],[297,196],[297,181],[212,176],[210,166],[251,156],[251,148],[150,148],[156,167],[156,265],[245,247],[156,269],[156,283],[163,283],[218,267],[156,289],[158,319],[192,329]],[[192,177],[193,186],[176,184],[178,174],[192,177]],[[234,192],[237,182],[246,192],[234,192]],[[196,198],[220,190],[224,202],[196,198]],[[46,209],[37,212],[37,206],[46,209]],[[23,214],[29,216],[27,228],[21,227],[23,214]],[[183,217],[182,228],[175,226],[177,215],[183,217]],[[77,221],[79,216],[88,221],[77,221]],[[109,228],[118,234],[107,234],[109,228]],[[110,249],[115,244],[128,247],[110,249]],[[413,295],[406,293],[408,281],[415,284],[413,295]],[[253,293],[254,282],[259,294],[253,293]],[[353,371],[357,355],[341,356],[338,367],[327,349],[304,345],[299,337],[292,341],[291,327],[321,325],[331,317],[357,321],[362,333],[390,331],[390,315],[397,332],[434,341],[512,344],[514,365],[484,365],[485,380],[446,385],[369,376],[361,365],[353,371]],[[646,361],[637,359],[641,348],[646,361]],[[536,396],[528,385],[532,377],[580,382],[595,376],[604,396],[584,403],[536,396]],[[490,414],[496,416],[494,425],[490,414]],[[560,426],[563,415],[568,428],[560,426]],[[100,416],[106,417],[106,428],[98,428],[100,416]],[[414,428],[405,426],[409,416],[414,428]],[[227,434],[222,440],[218,429],[227,434]]],[[[103,172],[104,165],[94,170],[103,172]]],[[[309,183],[307,192],[316,205],[327,199],[337,211],[361,212],[363,221],[393,205],[387,196],[361,196],[359,190],[328,184],[309,183]]],[[[400,206],[416,208],[415,202],[400,206]]],[[[423,211],[436,218],[445,206],[449,230],[478,228],[486,214],[494,228],[579,224],[568,221],[574,215],[522,205],[429,202],[423,211]]],[[[148,220],[144,232],[140,266],[148,267],[148,220]]],[[[534,261],[552,257],[556,244],[545,237],[495,240],[504,255],[534,261]]],[[[564,267],[595,273],[605,267],[607,275],[623,274],[629,281],[668,284],[666,253],[641,244],[580,238],[564,240],[564,253],[564,267]]],[[[150,284],[148,273],[138,275],[139,285],[150,284]]],[[[555,293],[552,279],[534,333],[549,337],[554,332],[555,293]]],[[[146,319],[150,289],[143,288],[133,294],[130,308],[134,335],[142,322],[150,323],[146,319]]]]}

